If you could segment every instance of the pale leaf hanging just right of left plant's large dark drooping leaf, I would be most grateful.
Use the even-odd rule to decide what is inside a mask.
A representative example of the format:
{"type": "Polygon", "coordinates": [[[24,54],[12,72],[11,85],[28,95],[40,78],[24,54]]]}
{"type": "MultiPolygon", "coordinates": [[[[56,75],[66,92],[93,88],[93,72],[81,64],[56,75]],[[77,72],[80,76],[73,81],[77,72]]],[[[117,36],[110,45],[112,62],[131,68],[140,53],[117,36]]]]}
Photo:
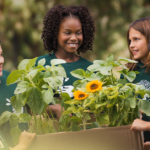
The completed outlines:
{"type": "Polygon", "coordinates": [[[53,100],[53,89],[49,87],[48,90],[43,90],[42,95],[46,104],[51,103],[53,100]]]}

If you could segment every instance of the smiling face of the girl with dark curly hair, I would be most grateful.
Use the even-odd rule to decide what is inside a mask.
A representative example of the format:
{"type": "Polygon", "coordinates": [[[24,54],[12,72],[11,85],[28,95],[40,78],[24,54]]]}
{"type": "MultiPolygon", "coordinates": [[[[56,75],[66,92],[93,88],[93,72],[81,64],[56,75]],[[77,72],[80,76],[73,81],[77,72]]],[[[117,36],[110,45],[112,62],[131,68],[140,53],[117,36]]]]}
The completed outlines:
{"type": "Polygon", "coordinates": [[[57,52],[75,54],[83,41],[82,26],[78,18],[67,17],[62,20],[58,32],[57,52]]]}

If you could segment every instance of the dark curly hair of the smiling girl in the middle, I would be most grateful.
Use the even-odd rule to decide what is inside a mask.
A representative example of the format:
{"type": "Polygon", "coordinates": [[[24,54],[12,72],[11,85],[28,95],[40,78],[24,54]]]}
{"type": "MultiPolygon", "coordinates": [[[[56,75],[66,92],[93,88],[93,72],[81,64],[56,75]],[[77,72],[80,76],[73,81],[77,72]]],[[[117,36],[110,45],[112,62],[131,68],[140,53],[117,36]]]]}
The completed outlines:
{"type": "Polygon", "coordinates": [[[44,17],[44,27],[42,32],[42,40],[44,50],[48,53],[57,51],[57,35],[61,21],[65,17],[77,17],[82,24],[83,42],[78,48],[77,53],[85,53],[87,50],[93,51],[93,40],[95,33],[94,20],[86,6],[69,6],[56,5],[51,8],[44,17]]]}

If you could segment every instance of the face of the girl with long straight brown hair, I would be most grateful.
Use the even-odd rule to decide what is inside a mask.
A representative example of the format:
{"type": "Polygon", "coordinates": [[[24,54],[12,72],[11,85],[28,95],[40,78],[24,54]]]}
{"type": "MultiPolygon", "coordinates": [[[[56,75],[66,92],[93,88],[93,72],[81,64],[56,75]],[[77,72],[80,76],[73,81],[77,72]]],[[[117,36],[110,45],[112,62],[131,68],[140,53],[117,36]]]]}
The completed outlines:
{"type": "Polygon", "coordinates": [[[129,49],[133,54],[134,59],[146,62],[149,54],[147,41],[145,36],[131,28],[129,31],[129,49]]]}

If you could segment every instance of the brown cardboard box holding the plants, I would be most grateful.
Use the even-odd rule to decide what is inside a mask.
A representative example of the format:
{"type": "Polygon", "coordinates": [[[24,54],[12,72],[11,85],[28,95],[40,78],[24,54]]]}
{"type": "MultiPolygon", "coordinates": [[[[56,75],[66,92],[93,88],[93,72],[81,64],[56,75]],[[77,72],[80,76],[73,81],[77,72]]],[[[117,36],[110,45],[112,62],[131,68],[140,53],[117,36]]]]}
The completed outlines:
{"type": "Polygon", "coordinates": [[[141,132],[130,126],[38,135],[28,150],[143,150],[141,132]]]}

